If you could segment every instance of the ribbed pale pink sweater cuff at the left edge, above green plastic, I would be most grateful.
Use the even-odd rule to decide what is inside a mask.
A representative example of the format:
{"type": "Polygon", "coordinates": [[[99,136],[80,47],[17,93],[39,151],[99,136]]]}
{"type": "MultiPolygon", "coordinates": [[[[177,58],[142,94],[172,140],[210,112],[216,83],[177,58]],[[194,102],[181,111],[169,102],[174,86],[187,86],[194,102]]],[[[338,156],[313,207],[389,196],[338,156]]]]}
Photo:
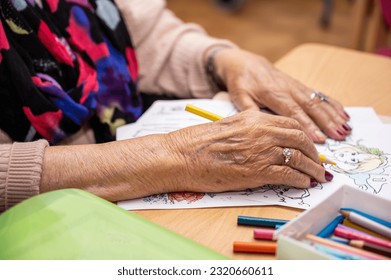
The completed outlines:
{"type": "Polygon", "coordinates": [[[46,140],[0,144],[0,213],[39,194],[46,140]]]}

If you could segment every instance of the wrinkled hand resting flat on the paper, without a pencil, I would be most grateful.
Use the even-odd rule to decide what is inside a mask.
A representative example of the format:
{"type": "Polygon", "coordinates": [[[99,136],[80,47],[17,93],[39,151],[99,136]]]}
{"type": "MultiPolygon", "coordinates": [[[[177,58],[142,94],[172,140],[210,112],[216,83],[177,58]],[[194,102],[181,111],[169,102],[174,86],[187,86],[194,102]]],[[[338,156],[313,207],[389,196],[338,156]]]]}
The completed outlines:
{"type": "Polygon", "coordinates": [[[294,118],[316,143],[323,143],[326,135],[343,140],[350,134],[346,123],[349,116],[340,103],[331,98],[327,102],[311,99],[313,89],[279,71],[266,59],[240,49],[223,49],[216,53],[214,63],[239,110],[268,108],[294,118]]]}

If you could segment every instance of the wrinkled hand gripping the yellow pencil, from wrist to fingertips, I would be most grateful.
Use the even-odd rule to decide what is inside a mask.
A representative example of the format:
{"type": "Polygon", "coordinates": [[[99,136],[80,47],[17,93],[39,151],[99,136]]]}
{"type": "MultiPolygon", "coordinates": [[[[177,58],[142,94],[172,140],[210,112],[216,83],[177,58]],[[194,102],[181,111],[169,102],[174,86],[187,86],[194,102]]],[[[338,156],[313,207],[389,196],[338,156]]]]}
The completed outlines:
{"type": "Polygon", "coordinates": [[[307,188],[326,181],[312,140],[291,118],[247,110],[168,137],[170,154],[181,162],[173,185],[187,184],[188,191],[221,192],[265,184],[307,188]],[[292,151],[287,164],[284,148],[292,151]]]}

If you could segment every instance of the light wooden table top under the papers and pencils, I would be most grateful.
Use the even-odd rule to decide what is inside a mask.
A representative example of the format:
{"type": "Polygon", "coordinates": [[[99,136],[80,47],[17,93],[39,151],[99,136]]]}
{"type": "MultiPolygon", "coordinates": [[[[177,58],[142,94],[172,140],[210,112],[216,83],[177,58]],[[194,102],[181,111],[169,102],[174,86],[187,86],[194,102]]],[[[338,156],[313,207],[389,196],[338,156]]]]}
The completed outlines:
{"type": "MultiPolygon", "coordinates": [[[[372,106],[391,116],[391,59],[319,44],[301,45],[276,66],[346,106],[372,106]]],[[[233,253],[233,241],[253,241],[253,227],[238,226],[238,215],[292,219],[302,210],[280,206],[139,210],[135,213],[234,259],[274,259],[233,253]]]]}

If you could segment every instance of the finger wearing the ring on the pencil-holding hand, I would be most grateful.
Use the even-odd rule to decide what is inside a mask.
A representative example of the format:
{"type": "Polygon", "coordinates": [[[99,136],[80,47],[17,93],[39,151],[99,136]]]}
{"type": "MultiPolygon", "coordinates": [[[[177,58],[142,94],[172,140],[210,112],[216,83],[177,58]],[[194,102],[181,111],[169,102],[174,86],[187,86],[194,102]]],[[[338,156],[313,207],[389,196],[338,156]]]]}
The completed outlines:
{"type": "Polygon", "coordinates": [[[290,149],[291,156],[286,162],[286,157],[283,154],[283,148],[281,148],[281,155],[283,157],[283,164],[293,169],[307,174],[309,177],[316,179],[318,182],[326,182],[325,169],[321,164],[314,162],[312,159],[305,156],[299,150],[290,149]]]}

